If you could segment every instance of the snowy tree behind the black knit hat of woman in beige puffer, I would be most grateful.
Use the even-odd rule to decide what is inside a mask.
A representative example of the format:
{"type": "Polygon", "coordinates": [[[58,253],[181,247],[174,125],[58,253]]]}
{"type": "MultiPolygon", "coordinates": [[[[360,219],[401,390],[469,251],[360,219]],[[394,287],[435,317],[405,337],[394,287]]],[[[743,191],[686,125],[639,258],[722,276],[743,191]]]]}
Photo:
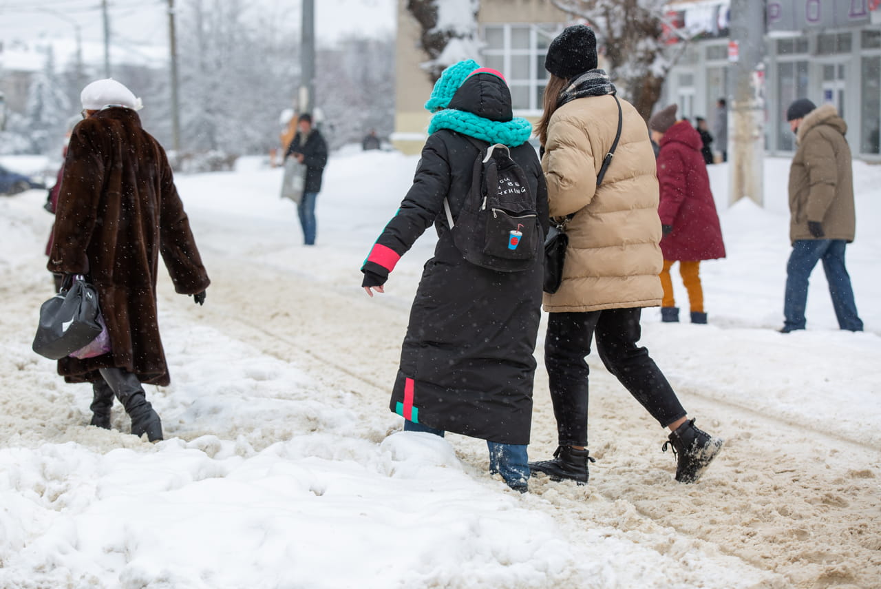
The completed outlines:
{"type": "Polygon", "coordinates": [[[648,121],[667,72],[685,49],[672,51],[663,40],[669,0],[551,0],[561,11],[586,20],[605,48],[609,74],[622,95],[648,121]]]}

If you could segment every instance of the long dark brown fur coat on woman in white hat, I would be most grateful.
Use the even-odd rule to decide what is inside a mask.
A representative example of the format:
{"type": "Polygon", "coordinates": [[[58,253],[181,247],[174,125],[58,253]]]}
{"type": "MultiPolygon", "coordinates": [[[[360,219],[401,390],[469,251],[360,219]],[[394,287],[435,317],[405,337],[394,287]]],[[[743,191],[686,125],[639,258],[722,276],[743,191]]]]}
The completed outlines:
{"type": "Polygon", "coordinates": [[[134,110],[100,110],[70,137],[48,269],[88,275],[113,352],[58,361],[68,382],[95,382],[98,369],[117,367],[169,383],[156,313],[160,253],[178,293],[208,287],[162,146],[134,110]]]}

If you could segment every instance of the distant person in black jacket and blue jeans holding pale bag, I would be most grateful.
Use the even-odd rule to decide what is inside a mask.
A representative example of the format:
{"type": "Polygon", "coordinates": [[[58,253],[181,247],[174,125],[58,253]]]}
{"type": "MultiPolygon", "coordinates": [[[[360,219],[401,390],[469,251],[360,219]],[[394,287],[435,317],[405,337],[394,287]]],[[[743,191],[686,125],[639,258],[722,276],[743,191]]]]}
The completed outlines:
{"type": "Polygon", "coordinates": [[[306,245],[315,245],[315,199],[322,190],[322,175],[328,162],[328,145],[321,131],[312,126],[312,115],[308,113],[300,115],[297,121],[297,134],[285,152],[285,159],[289,157],[306,165],[306,183],[303,186],[303,198],[300,198],[300,204],[297,205],[297,214],[300,216],[300,227],[303,228],[303,242],[306,245]]]}

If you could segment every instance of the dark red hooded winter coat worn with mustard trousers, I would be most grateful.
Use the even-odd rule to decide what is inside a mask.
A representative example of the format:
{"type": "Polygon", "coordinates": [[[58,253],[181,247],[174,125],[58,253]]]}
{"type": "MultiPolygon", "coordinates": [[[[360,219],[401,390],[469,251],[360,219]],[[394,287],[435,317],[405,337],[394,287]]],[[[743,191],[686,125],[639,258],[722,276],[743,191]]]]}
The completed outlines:
{"type": "Polygon", "coordinates": [[[673,227],[664,235],[665,260],[712,260],[725,257],[722,227],[716,214],[707,164],[700,154],[700,134],[688,121],[679,121],[664,133],[657,158],[662,225],[673,227]]]}

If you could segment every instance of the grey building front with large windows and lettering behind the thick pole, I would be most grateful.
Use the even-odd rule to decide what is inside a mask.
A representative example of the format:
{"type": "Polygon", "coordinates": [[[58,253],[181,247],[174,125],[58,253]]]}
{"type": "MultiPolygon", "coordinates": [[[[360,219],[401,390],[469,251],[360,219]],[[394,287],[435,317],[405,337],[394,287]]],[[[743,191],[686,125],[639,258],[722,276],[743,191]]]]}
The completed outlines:
{"type": "MultiPolygon", "coordinates": [[[[877,0],[770,0],[766,2],[765,147],[791,153],[794,136],[786,108],[796,98],[830,102],[848,123],[855,156],[881,161],[881,9],[877,0]]],[[[662,102],[682,116],[711,116],[729,98],[728,0],[670,5],[686,28],[703,26],[670,70],[662,102]],[[707,17],[707,15],[709,15],[707,17]],[[721,26],[720,26],[721,25],[721,26]],[[712,30],[715,26],[715,32],[712,30]]],[[[694,29],[692,28],[692,32],[694,29]]]]}

